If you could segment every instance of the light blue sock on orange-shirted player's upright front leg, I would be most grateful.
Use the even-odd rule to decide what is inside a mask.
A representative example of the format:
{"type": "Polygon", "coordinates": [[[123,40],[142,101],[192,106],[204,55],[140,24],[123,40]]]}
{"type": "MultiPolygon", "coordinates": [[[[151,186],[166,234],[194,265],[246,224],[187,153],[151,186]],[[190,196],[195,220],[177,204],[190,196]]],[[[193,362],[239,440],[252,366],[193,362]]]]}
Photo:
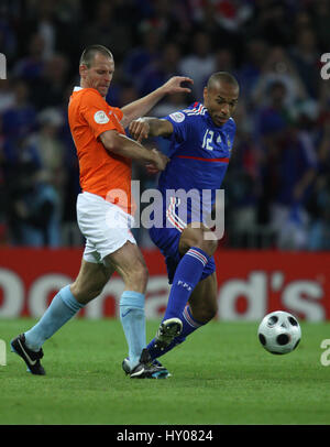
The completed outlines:
{"type": "Polygon", "coordinates": [[[140,362],[145,348],[144,294],[124,291],[120,297],[120,320],[129,345],[131,370],[140,362]]]}

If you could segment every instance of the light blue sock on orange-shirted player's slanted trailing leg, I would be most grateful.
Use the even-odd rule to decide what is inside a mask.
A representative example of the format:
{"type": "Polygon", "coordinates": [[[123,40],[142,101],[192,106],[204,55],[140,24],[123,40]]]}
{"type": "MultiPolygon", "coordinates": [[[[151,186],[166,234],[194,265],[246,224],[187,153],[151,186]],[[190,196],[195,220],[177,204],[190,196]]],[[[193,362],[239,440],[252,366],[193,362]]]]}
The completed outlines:
{"type": "Polygon", "coordinates": [[[50,307],[37,324],[24,334],[28,348],[38,351],[45,340],[52,337],[84,306],[74,297],[69,285],[63,287],[54,296],[50,307]]]}

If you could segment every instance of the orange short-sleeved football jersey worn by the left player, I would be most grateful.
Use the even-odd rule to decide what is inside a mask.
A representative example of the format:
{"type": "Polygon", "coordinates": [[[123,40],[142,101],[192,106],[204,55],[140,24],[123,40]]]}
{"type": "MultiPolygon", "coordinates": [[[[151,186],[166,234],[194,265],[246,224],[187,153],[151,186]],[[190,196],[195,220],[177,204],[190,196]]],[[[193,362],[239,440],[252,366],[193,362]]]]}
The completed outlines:
{"type": "Polygon", "coordinates": [[[68,121],[77,149],[82,192],[97,194],[131,214],[132,161],[106,150],[99,135],[107,130],[125,134],[122,111],[111,107],[94,88],[76,87],[68,105],[68,121]]]}

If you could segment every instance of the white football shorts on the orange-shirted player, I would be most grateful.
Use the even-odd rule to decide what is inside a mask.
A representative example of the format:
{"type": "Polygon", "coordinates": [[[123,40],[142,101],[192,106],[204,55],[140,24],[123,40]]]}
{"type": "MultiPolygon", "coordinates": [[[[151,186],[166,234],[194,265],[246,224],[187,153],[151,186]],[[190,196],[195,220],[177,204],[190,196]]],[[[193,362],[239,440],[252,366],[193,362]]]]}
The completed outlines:
{"type": "Polygon", "coordinates": [[[136,243],[131,231],[133,216],[96,194],[78,195],[77,221],[86,238],[84,259],[87,262],[105,263],[105,257],[120,249],[127,241],[136,243]]]}

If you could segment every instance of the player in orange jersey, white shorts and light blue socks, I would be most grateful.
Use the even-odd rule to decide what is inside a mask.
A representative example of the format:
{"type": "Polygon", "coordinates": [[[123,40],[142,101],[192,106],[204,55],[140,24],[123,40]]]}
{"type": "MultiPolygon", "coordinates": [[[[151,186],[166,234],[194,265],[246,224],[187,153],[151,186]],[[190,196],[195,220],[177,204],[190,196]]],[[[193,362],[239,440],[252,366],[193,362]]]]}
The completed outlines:
{"type": "Polygon", "coordinates": [[[131,378],[166,378],[168,371],[153,363],[145,349],[144,294],[147,269],[131,232],[132,160],[163,171],[168,159],[128,138],[124,128],[147,113],[167,94],[190,91],[175,76],[150,95],[123,107],[109,106],[106,96],[114,72],[111,52],[102,45],[87,47],[80,57],[80,86],[69,100],[68,120],[77,149],[81,194],[77,219],[86,238],[80,271],[73,284],[63,287],[30,330],[11,341],[33,374],[45,374],[40,360],[42,346],[88,302],[97,297],[117,271],[123,282],[120,318],[129,346],[131,378]]]}

